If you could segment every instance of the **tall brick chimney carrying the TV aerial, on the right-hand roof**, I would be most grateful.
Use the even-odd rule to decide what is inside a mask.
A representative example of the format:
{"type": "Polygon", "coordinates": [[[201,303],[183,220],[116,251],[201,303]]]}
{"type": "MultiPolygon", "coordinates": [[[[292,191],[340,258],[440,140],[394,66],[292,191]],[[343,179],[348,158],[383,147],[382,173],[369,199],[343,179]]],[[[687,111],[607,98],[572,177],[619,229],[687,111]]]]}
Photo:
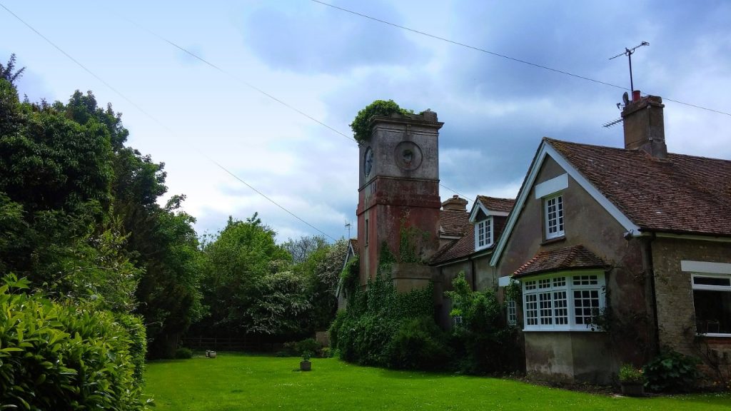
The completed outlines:
{"type": "Polygon", "coordinates": [[[640,97],[635,91],[632,102],[622,110],[624,148],[642,150],[654,159],[667,158],[662,98],[640,97]]]}

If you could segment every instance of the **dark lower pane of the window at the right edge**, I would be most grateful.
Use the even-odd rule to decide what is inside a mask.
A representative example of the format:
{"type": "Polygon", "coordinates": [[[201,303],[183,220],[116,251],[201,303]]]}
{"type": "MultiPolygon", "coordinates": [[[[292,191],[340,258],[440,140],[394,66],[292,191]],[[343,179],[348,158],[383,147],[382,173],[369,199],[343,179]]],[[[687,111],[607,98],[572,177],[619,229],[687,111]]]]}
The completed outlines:
{"type": "Polygon", "coordinates": [[[693,305],[699,333],[731,334],[731,292],[694,290],[693,305]]]}

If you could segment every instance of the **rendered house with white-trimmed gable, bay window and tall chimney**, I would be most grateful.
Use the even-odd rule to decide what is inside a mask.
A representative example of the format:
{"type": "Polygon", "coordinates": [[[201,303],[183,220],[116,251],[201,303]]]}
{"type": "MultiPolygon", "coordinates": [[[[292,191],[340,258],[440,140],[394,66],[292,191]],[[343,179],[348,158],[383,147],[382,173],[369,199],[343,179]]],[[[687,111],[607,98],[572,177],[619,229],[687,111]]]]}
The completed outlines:
{"type": "Polygon", "coordinates": [[[665,348],[731,363],[731,161],[667,153],[663,108],[636,94],[624,148],[540,143],[490,263],[521,284],[534,377],[610,382],[665,348]]]}

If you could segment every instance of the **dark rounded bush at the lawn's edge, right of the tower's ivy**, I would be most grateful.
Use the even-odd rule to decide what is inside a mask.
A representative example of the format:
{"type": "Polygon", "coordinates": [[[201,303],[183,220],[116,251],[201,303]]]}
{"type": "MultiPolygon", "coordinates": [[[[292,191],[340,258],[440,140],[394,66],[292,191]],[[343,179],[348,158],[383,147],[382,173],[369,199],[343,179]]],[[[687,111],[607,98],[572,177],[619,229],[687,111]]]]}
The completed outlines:
{"type": "Polygon", "coordinates": [[[388,347],[388,366],[395,369],[442,369],[449,360],[444,332],[431,317],[401,324],[388,347]]]}

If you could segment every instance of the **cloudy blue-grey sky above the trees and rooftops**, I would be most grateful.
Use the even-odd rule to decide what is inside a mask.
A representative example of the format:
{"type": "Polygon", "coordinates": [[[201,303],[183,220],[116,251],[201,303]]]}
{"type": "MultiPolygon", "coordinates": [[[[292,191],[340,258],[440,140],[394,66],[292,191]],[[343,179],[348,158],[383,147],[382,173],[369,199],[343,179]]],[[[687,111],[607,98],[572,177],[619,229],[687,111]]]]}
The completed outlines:
{"type": "Polygon", "coordinates": [[[515,197],[544,136],[623,146],[602,124],[629,69],[609,58],[643,41],[635,89],[664,98],[668,151],[731,159],[731,116],[678,103],[731,113],[727,1],[330,2],[433,37],[311,0],[0,4],[68,55],[0,7],[20,96],[111,102],[201,235],[257,212],[279,241],[355,237],[349,124],[375,99],[438,113],[443,200],[515,197]]]}

